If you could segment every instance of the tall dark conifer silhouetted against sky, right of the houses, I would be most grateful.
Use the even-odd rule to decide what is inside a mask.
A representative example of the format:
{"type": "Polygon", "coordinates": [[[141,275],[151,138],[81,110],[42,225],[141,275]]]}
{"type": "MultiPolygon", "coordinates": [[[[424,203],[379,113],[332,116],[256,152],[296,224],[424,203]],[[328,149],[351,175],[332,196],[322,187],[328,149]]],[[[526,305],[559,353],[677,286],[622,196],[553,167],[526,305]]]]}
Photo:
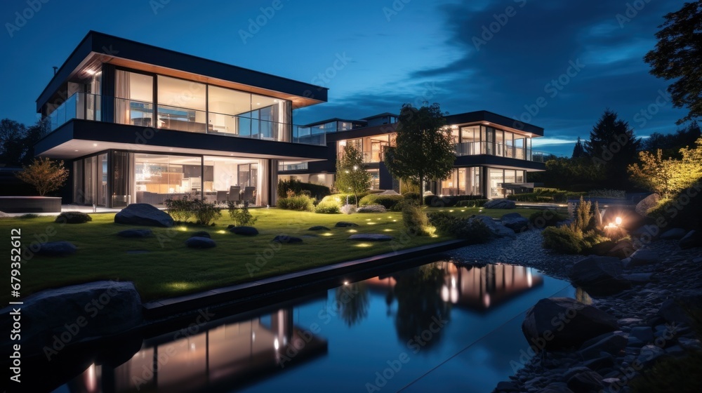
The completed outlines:
{"type": "Polygon", "coordinates": [[[596,166],[603,166],[608,187],[627,188],[627,166],[637,159],[640,140],[626,121],[617,118],[616,112],[605,109],[585,142],[585,154],[596,166]]]}

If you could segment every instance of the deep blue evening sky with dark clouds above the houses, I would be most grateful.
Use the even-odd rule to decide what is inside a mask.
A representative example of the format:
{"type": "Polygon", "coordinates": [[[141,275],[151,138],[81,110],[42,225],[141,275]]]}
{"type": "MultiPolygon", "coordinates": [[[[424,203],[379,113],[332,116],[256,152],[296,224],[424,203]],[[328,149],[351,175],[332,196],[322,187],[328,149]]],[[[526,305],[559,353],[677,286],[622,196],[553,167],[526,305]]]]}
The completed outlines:
{"type": "Polygon", "coordinates": [[[569,155],[607,107],[638,136],[675,131],[687,112],[642,57],[683,3],[3,0],[0,118],[34,123],[51,67],[93,29],[328,87],[329,102],[296,110],[296,124],[439,102],[527,120],[545,128],[535,149],[569,155]]]}

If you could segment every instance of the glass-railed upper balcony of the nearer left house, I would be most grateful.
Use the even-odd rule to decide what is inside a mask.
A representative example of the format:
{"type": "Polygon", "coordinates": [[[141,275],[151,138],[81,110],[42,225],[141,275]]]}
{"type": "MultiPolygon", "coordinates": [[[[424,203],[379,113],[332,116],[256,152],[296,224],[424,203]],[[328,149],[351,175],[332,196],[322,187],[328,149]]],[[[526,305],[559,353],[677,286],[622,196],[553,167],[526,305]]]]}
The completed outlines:
{"type": "Polygon", "coordinates": [[[156,105],[153,102],[75,93],[48,116],[51,131],[72,119],[102,120],[102,104],[114,102],[114,123],[155,127],[164,130],[225,135],[236,138],[273,140],[326,146],[326,133],[319,127],[296,126],[249,116],[206,112],[197,109],[156,105]],[[155,113],[155,121],[154,121],[155,113]]]}

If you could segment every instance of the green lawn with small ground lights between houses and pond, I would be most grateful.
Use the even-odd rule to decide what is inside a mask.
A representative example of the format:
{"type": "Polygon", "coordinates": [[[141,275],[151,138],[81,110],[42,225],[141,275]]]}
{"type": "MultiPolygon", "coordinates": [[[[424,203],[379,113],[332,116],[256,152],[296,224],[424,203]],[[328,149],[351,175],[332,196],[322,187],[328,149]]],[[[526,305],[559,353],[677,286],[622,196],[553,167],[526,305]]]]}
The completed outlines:
{"type": "MultiPolygon", "coordinates": [[[[466,216],[479,212],[478,208],[427,210],[453,211],[456,215],[466,216]]],[[[510,212],[515,211],[527,216],[533,212],[529,209],[510,212]]],[[[450,239],[404,235],[401,213],[328,215],[276,208],[252,209],[251,212],[258,217],[255,226],[260,234],[256,237],[243,237],[228,232],[226,227],[232,221],[227,211],[223,211],[223,218],[213,227],[154,227],[155,236],[146,239],[117,237],[117,232],[131,226],[114,224],[114,213],[91,214],[92,222],[74,225],[54,223],[53,217],[3,218],[0,220],[0,229],[5,234],[6,241],[9,240],[10,229],[22,229],[24,248],[37,239],[46,241],[41,239],[46,234],[50,235],[48,241],[66,240],[78,247],[77,253],[69,257],[22,258],[22,298],[44,288],[112,279],[134,281],[146,301],[450,239]],[[355,222],[359,227],[333,227],[341,220],[355,222]],[[324,225],[330,230],[308,231],[307,228],[313,225],[324,225]],[[210,232],[212,239],[217,242],[216,248],[197,250],[185,246],[185,239],[200,230],[210,232]],[[379,243],[347,240],[353,233],[390,234],[395,240],[379,243]],[[303,244],[278,246],[270,242],[277,234],[297,237],[317,234],[318,237],[304,238],[303,244]]],[[[483,210],[482,213],[500,217],[506,212],[483,210]]],[[[5,266],[5,271],[9,274],[9,263],[5,266]]],[[[10,300],[9,293],[0,295],[0,300],[10,300]]]]}

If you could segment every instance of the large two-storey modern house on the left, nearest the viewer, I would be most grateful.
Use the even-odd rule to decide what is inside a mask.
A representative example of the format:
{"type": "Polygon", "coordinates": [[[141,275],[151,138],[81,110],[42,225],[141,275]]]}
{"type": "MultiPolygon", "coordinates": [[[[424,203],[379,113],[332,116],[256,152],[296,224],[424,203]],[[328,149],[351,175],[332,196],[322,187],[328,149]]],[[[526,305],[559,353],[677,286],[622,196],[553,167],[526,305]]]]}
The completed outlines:
{"type": "MultiPolygon", "coordinates": [[[[72,202],[119,208],[170,197],[274,205],[279,161],[327,158],[326,133],[293,109],[327,89],[88,32],[37,99],[72,202]]],[[[64,203],[68,203],[64,199],[64,203]]]]}

